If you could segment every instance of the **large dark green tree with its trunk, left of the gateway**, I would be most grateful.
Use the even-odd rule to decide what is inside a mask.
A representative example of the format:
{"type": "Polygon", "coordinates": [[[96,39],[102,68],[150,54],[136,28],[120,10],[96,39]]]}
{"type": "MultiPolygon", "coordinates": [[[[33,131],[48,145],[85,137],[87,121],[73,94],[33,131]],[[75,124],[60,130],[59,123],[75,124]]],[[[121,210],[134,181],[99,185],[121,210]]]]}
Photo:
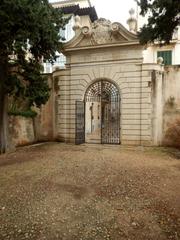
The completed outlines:
{"type": "Polygon", "coordinates": [[[0,153],[7,148],[7,97],[40,106],[49,97],[41,61],[55,60],[67,19],[48,0],[0,1],[0,153]]]}

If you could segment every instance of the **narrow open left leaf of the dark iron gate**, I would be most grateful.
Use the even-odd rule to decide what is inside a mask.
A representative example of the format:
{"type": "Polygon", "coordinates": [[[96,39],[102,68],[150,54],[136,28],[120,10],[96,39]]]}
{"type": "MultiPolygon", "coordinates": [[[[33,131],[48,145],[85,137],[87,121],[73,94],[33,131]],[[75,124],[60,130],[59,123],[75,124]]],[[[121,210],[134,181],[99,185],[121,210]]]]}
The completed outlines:
{"type": "Polygon", "coordinates": [[[85,111],[84,102],[76,101],[76,144],[85,142],[85,111]]]}

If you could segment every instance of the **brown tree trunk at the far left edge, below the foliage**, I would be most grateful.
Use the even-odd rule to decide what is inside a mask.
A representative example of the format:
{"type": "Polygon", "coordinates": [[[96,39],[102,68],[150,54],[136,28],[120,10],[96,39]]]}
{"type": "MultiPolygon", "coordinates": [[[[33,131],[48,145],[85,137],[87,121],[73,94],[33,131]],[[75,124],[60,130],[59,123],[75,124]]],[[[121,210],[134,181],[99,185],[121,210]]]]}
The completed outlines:
{"type": "Polygon", "coordinates": [[[5,79],[7,68],[0,63],[0,154],[8,149],[8,102],[5,93],[5,79]]]}

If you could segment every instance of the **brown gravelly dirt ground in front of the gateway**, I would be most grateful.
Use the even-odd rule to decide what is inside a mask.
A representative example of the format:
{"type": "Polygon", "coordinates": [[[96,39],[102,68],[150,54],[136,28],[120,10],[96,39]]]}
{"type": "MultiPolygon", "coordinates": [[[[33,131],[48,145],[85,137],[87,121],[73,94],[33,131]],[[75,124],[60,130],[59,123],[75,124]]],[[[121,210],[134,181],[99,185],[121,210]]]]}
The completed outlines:
{"type": "Polygon", "coordinates": [[[1,155],[1,239],[180,239],[180,154],[46,143],[1,155]]]}

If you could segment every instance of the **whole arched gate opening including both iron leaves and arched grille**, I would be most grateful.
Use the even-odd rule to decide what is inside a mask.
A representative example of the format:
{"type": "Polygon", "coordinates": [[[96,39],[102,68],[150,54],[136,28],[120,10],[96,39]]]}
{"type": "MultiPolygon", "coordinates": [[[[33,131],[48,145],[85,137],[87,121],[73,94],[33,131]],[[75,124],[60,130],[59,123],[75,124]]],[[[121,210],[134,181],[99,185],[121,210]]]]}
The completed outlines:
{"type": "Polygon", "coordinates": [[[76,102],[76,144],[120,144],[120,94],[107,80],[93,83],[76,102]]]}

